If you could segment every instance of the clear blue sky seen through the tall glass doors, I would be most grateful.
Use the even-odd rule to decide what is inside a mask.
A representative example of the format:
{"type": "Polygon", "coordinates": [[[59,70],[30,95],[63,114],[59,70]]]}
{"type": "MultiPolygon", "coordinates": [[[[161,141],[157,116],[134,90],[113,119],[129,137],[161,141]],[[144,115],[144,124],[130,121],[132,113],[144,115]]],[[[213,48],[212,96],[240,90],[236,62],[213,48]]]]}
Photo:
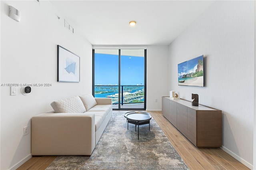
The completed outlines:
{"type": "MultiPolygon", "coordinates": [[[[144,57],[121,55],[121,85],[144,85],[144,57]]],[[[95,53],[95,85],[118,85],[118,55],[95,53]]]]}

